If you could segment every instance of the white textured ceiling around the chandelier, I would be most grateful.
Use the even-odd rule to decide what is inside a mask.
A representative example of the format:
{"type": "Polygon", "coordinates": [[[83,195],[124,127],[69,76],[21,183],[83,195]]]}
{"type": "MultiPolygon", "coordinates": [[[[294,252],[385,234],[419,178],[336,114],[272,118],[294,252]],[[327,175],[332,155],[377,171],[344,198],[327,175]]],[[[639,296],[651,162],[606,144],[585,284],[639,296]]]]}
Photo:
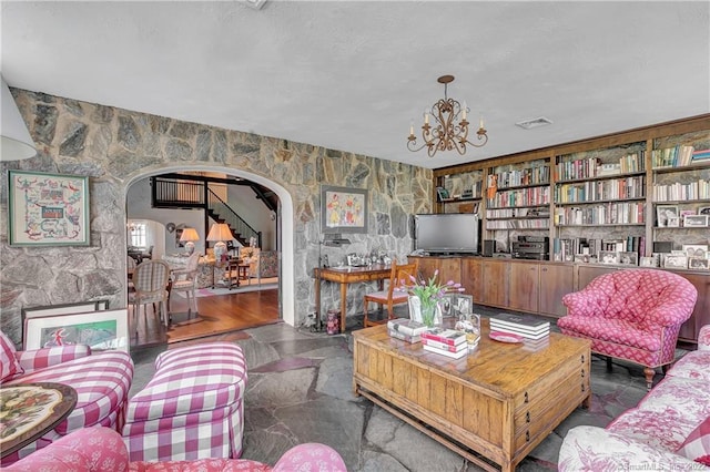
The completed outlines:
{"type": "Polygon", "coordinates": [[[10,86],[436,168],[708,113],[709,9],[3,0],[1,70],[10,86]],[[489,142],[429,158],[406,137],[443,74],[489,142]],[[554,124],[515,126],[538,116],[554,124]]]}

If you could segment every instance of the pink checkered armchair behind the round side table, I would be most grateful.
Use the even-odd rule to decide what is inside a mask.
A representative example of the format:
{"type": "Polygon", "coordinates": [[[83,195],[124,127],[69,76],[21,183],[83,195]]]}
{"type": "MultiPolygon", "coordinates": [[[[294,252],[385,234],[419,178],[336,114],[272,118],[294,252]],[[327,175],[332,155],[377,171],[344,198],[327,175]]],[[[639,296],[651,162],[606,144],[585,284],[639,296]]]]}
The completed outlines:
{"type": "Polygon", "coordinates": [[[29,382],[64,383],[77,391],[72,412],[38,441],[2,459],[2,466],[44,448],[64,434],[82,428],[103,425],[121,430],[124,407],[133,380],[133,361],[128,352],[104,351],[91,355],[88,346],[59,346],[16,351],[0,331],[3,387],[29,382]],[[6,367],[10,369],[6,371],[6,367]]]}

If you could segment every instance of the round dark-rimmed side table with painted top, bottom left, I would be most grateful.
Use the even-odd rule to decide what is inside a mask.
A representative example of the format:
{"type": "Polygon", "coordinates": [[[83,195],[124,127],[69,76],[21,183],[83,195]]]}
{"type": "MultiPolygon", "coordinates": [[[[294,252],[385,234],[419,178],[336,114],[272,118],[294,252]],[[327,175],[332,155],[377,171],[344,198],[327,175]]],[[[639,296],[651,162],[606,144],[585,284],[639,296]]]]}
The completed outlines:
{"type": "Polygon", "coordinates": [[[77,391],[63,383],[17,383],[0,389],[0,456],[4,458],[57,428],[77,406],[77,391]]]}

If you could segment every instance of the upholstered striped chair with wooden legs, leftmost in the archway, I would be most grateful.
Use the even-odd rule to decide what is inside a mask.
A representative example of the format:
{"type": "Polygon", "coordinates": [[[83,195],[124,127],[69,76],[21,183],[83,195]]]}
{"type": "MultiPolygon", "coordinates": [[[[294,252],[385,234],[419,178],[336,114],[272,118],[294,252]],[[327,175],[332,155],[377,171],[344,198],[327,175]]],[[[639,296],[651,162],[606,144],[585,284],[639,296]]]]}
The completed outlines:
{"type": "MultiPolygon", "coordinates": [[[[145,260],[133,271],[133,287],[135,291],[129,294],[129,302],[133,305],[133,320],[138,332],[138,316],[140,308],[148,304],[160,304],[161,319],[168,326],[170,312],[168,309],[168,283],[170,266],[163,260],[145,260]]],[[[145,311],[146,309],[143,308],[145,311]]],[[[148,311],[146,317],[148,317],[148,311]]]]}

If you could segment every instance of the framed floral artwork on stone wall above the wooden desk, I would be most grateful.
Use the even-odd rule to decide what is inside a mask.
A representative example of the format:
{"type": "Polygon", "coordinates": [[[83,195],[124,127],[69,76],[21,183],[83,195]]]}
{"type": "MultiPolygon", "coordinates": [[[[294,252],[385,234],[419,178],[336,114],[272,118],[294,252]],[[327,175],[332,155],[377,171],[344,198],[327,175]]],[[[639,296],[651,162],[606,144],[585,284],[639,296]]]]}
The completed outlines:
{"type": "Polygon", "coordinates": [[[323,233],[367,233],[367,191],[321,186],[323,233]]]}

